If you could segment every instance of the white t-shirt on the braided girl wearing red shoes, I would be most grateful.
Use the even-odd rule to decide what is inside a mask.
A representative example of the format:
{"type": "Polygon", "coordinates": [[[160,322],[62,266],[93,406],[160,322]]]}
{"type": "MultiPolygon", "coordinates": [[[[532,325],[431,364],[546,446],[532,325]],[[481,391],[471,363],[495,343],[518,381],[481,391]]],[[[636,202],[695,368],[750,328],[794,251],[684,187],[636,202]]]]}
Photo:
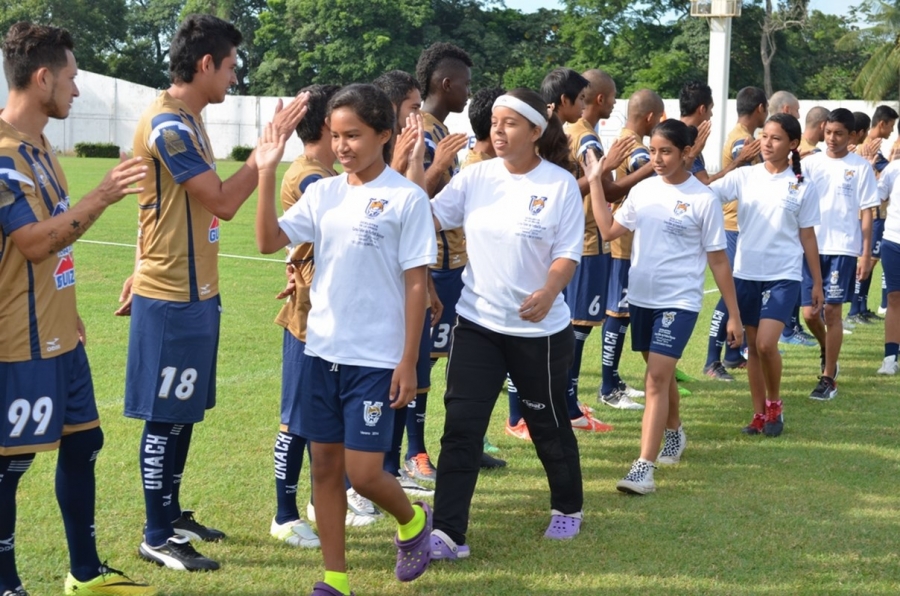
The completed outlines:
{"type": "Polygon", "coordinates": [[[710,185],[723,203],[736,198],[741,234],[734,276],[754,281],[803,280],[800,228],[819,223],[819,195],[791,168],[772,174],[765,164],[738,168],[710,185]]]}

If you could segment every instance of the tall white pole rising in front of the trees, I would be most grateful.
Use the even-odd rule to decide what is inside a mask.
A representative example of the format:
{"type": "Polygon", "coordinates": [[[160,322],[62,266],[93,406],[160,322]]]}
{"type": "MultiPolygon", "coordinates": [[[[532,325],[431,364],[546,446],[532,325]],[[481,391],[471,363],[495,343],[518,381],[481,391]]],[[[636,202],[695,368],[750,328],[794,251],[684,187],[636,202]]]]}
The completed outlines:
{"type": "Polygon", "coordinates": [[[722,146],[725,144],[725,118],[728,115],[728,77],[731,64],[731,17],[709,19],[709,80],[713,92],[712,129],[705,152],[706,165],[710,171],[722,168],[722,146]]]}

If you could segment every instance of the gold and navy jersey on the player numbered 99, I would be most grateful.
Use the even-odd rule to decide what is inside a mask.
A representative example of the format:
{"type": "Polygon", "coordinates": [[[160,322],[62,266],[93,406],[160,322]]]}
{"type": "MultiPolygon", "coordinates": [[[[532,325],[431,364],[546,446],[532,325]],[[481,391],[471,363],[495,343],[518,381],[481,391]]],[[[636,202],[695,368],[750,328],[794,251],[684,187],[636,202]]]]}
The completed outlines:
{"type": "Polygon", "coordinates": [[[9,238],[67,211],[67,188],[46,138],[0,120],[0,362],[53,358],[78,344],[72,247],[32,263],[9,238]]]}

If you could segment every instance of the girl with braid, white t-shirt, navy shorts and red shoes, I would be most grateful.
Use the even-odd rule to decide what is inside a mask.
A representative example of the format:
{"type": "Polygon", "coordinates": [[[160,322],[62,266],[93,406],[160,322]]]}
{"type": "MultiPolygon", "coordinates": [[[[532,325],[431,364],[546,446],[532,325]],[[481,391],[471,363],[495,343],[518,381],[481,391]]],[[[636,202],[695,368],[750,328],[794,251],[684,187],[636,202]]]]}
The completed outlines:
{"type": "Polygon", "coordinates": [[[819,194],[800,169],[800,123],[770,117],[760,136],[764,163],[710,185],[723,203],[738,201],[741,235],[734,261],[738,307],[747,333],[753,420],[743,431],[777,437],[784,429],[778,338],[800,299],[803,260],[813,279],[812,308],[825,301],[816,230],[819,194]]]}

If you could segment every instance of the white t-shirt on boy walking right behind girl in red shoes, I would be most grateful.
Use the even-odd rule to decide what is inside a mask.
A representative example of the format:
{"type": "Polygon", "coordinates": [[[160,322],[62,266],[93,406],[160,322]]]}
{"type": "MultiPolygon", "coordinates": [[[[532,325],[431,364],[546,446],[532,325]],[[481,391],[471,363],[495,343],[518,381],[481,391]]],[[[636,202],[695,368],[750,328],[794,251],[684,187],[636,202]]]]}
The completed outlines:
{"type": "Polygon", "coordinates": [[[859,210],[878,207],[878,187],[872,165],[856,153],[841,159],[824,151],[802,162],[803,175],[816,185],[822,222],[816,226],[819,254],[862,255],[859,210]]]}

